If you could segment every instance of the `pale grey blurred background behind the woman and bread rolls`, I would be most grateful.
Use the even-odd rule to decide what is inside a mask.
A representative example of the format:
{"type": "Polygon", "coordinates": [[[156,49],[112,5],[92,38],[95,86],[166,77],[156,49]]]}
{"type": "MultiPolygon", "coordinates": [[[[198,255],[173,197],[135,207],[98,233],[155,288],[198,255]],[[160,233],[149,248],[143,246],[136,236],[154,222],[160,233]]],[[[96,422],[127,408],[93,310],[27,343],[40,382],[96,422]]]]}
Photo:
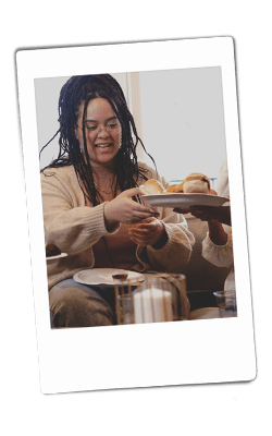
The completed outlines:
{"type": "MultiPolygon", "coordinates": [[[[112,74],[125,94],[138,136],[170,182],[190,172],[217,179],[226,158],[220,66],[112,74]]],[[[61,87],[70,77],[35,80],[38,150],[55,134],[61,87]]],[[[58,156],[59,136],[42,152],[40,168],[58,156]]],[[[152,161],[139,146],[139,160],[152,161]]]]}

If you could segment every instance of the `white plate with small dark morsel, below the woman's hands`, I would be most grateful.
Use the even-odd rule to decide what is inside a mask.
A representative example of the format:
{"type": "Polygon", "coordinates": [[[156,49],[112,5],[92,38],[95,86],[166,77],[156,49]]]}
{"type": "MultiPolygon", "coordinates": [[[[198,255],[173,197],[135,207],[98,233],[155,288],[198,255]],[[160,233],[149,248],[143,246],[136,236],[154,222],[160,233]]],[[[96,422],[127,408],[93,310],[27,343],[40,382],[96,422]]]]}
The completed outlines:
{"type": "Polygon", "coordinates": [[[129,271],[125,269],[113,269],[113,268],[94,268],[84,269],[74,275],[74,280],[83,284],[101,284],[101,286],[114,286],[125,283],[126,280],[114,280],[113,274],[127,274],[126,280],[144,281],[145,276],[139,272],[129,271]]]}

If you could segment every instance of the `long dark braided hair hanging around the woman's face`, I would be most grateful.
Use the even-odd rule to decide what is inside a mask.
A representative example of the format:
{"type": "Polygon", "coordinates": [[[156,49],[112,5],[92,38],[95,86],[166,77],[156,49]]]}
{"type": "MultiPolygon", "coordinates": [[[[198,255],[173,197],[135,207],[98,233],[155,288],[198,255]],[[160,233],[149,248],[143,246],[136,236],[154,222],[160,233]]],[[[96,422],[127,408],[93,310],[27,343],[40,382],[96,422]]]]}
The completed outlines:
{"type": "Polygon", "coordinates": [[[121,191],[136,187],[139,175],[141,175],[145,180],[148,179],[145,174],[146,171],[144,168],[138,166],[136,156],[136,146],[138,142],[141,144],[145,153],[154,164],[153,158],[147,153],[141,140],[137,135],[133,116],[127,108],[124,93],[119,83],[110,74],[79,75],[71,77],[63,85],[60,93],[58,108],[58,121],[60,122],[60,129],[40,150],[41,154],[44,148],[47,147],[47,145],[50,144],[50,142],[60,133],[59,155],[54,160],[51,161],[51,164],[45,167],[41,172],[48,168],[73,165],[81,189],[87,195],[94,206],[99,203],[99,193],[95,186],[89,159],[85,158],[85,156],[88,156],[86,132],[85,129],[83,129],[84,153],[82,153],[75,131],[82,104],[84,104],[84,110],[81,125],[84,126],[87,106],[91,99],[98,97],[104,98],[109,101],[121,123],[122,142],[116,154],[115,169],[116,185],[120,186],[121,191]],[[135,136],[135,143],[133,141],[132,132],[135,136]],[[82,183],[84,186],[82,186],[82,183]]]}

